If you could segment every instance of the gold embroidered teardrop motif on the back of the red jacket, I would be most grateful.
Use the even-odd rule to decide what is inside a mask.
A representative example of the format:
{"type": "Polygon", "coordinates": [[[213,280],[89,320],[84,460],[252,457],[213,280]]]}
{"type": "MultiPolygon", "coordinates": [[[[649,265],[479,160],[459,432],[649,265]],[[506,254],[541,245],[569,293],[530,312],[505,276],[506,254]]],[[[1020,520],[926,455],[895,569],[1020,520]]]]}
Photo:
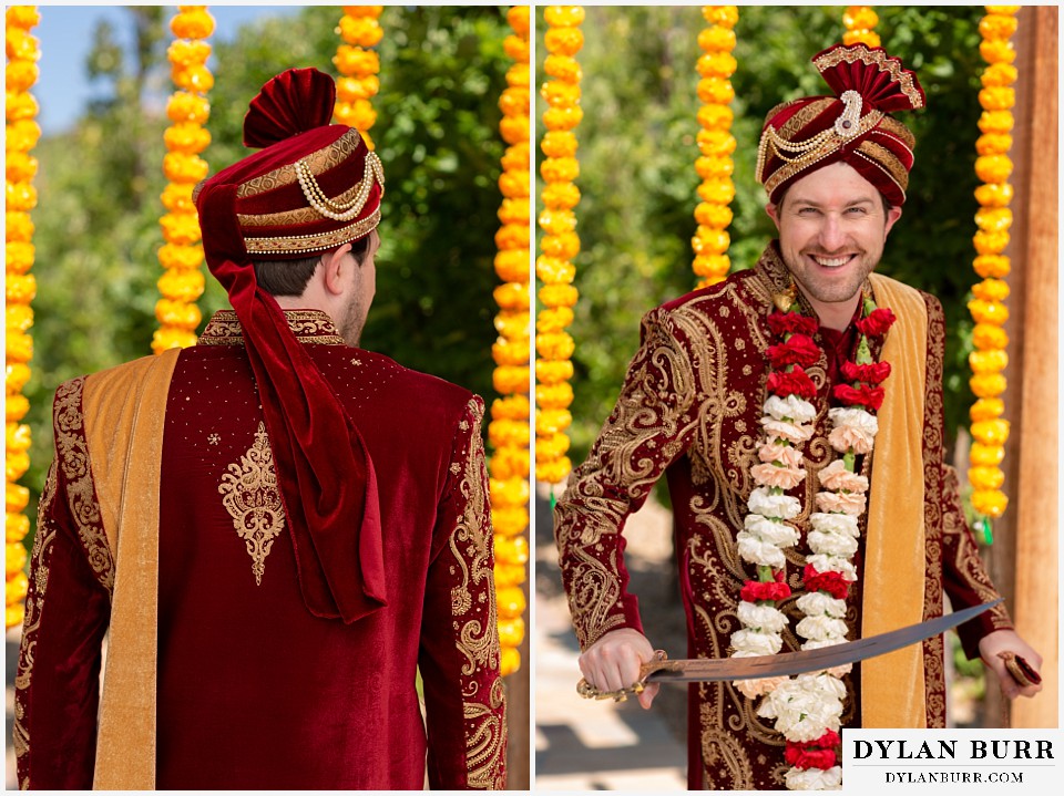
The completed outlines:
{"type": "Polygon", "coordinates": [[[255,443],[241,461],[228,466],[218,492],[222,504],[233,517],[233,527],[252,557],[255,583],[262,586],[266,556],[274,539],[285,528],[285,509],[274,469],[274,453],[266,436],[266,424],[259,421],[255,443]]]}

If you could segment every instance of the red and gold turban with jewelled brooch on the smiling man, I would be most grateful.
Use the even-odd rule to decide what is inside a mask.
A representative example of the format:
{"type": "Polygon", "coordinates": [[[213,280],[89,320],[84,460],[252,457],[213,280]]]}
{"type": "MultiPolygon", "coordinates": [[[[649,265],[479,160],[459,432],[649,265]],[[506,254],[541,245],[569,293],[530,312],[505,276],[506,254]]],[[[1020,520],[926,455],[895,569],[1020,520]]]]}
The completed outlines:
{"type": "Polygon", "coordinates": [[[756,170],[769,201],[778,204],[802,175],[842,162],[900,207],[915,139],[888,113],[924,106],[917,75],[882,48],[864,44],[837,44],[812,63],[836,96],[802,97],[769,111],[756,170]]]}

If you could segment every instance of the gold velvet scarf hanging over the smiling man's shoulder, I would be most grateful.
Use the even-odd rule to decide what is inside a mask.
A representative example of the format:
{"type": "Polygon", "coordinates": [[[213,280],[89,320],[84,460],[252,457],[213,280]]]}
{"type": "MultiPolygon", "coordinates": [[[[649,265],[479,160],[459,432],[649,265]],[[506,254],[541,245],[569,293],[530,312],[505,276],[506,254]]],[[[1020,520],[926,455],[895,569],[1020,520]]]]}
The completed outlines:
{"type": "MultiPolygon", "coordinates": [[[[881,361],[883,383],[879,434],[864,544],[861,635],[923,621],[924,474],[923,412],[927,384],[928,310],[919,291],[879,275],[869,277],[879,307],[898,320],[881,361]],[[901,497],[903,496],[903,499],[901,497]]],[[[864,727],[925,727],[923,645],[912,644],[861,662],[864,727]]]]}

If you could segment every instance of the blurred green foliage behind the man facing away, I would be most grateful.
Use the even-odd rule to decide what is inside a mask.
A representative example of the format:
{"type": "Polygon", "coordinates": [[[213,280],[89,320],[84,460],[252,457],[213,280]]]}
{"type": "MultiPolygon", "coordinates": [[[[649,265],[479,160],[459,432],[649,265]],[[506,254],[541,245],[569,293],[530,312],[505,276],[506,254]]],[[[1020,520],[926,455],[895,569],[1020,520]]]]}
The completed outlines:
{"type": "MultiPolygon", "coordinates": [[[[389,7],[381,15],[381,90],[371,134],[387,185],[377,298],[362,333],[366,348],[489,401],[492,290],[499,283],[492,261],[505,146],[498,101],[512,64],[502,46],[512,33],[505,8],[389,7]]],[[[33,153],[40,161],[33,213],[38,297],[33,375],[25,389],[33,447],[23,483],[34,493],[52,458],[55,387],[151,353],[174,12],[129,9],[132,58],[116,45],[116,31],[98,27],[86,70],[110,85],[109,99],[33,153]]],[[[212,174],[249,154],[241,144],[244,114],[269,77],[291,66],[336,74],[331,58],[341,14],[339,7],[307,7],[215,44],[208,62],[215,75],[207,125],[213,141],[203,154],[212,174]]],[[[204,319],[227,306],[208,277],[200,301],[204,319]]]]}

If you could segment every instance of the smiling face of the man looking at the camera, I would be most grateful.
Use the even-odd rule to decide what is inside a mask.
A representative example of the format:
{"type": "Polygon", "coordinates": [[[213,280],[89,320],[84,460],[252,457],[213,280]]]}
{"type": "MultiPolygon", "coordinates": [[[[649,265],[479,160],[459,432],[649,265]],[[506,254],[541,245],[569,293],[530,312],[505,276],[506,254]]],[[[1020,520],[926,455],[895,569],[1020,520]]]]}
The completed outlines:
{"type": "Polygon", "coordinates": [[[871,183],[851,166],[833,163],[794,183],[780,205],[766,210],[779,229],[784,262],[821,322],[845,328],[901,208],[884,213],[871,183]]]}

